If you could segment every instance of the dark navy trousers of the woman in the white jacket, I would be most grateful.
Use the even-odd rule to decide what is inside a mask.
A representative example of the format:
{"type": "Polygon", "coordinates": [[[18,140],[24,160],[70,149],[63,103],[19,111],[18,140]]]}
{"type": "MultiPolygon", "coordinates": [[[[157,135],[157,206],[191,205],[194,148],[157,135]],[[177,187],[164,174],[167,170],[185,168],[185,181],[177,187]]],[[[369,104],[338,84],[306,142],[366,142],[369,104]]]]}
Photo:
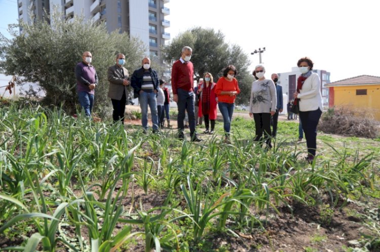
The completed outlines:
{"type": "Polygon", "coordinates": [[[322,111],[319,108],[314,111],[299,112],[302,129],[305,132],[306,144],[308,145],[308,153],[313,156],[315,156],[315,150],[317,149],[317,126],[321,115],[322,111]]]}

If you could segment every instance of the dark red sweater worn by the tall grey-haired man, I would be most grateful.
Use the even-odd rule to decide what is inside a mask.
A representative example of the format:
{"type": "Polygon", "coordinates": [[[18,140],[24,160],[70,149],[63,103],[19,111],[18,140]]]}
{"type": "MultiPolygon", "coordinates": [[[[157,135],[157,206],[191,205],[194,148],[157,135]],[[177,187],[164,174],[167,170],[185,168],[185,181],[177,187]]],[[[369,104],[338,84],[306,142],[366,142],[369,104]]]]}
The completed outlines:
{"type": "Polygon", "coordinates": [[[180,60],[174,62],[172,67],[172,89],[173,94],[177,94],[177,89],[192,91],[194,85],[193,63],[182,63],[180,60]]]}

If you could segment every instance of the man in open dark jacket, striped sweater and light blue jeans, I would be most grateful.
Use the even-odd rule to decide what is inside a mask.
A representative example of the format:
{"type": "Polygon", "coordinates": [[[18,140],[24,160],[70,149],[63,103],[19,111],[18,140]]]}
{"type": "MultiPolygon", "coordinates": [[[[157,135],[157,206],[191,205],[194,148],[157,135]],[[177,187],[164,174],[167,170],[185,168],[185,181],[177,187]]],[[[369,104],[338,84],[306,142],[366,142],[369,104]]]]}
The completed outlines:
{"type": "Polygon", "coordinates": [[[160,88],[157,72],[150,67],[150,59],[142,60],[142,67],[135,70],[131,78],[131,86],[138,96],[141,108],[141,124],[144,132],[148,129],[148,105],[153,124],[153,133],[159,131],[157,115],[157,93],[160,88]]]}

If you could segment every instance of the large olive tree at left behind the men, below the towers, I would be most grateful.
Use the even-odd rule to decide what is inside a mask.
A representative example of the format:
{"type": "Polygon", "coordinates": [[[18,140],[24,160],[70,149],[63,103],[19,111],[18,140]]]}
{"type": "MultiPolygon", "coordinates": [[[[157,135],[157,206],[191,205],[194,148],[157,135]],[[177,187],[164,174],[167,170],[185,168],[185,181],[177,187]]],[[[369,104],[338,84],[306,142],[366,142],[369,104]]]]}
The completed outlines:
{"type": "Polygon", "coordinates": [[[82,54],[90,51],[96,68],[99,85],[95,90],[95,112],[101,115],[110,111],[107,97],[107,69],[115,64],[117,53],[126,55],[126,68],[131,72],[140,65],[144,48],[141,41],[129,38],[127,33],[107,33],[100,25],[83,17],[67,22],[59,12],[51,14],[51,24],[37,20],[32,24],[20,22],[23,33],[13,39],[1,38],[2,58],[0,70],[9,75],[23,77],[19,81],[39,82],[46,91],[44,102],[74,112],[77,102],[75,65],[82,54]]]}

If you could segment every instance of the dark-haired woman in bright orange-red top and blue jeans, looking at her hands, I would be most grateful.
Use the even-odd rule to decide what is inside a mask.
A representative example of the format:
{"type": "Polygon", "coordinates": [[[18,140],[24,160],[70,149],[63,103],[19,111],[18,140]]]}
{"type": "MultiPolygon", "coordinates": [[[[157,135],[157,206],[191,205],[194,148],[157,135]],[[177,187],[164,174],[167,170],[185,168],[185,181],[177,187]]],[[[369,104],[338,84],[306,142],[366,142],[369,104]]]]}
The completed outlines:
{"type": "Polygon", "coordinates": [[[223,70],[223,77],[220,77],[216,83],[215,93],[218,96],[218,106],[223,116],[225,141],[230,142],[230,129],[232,114],[234,113],[235,97],[240,93],[236,67],[227,66],[223,70]]]}

